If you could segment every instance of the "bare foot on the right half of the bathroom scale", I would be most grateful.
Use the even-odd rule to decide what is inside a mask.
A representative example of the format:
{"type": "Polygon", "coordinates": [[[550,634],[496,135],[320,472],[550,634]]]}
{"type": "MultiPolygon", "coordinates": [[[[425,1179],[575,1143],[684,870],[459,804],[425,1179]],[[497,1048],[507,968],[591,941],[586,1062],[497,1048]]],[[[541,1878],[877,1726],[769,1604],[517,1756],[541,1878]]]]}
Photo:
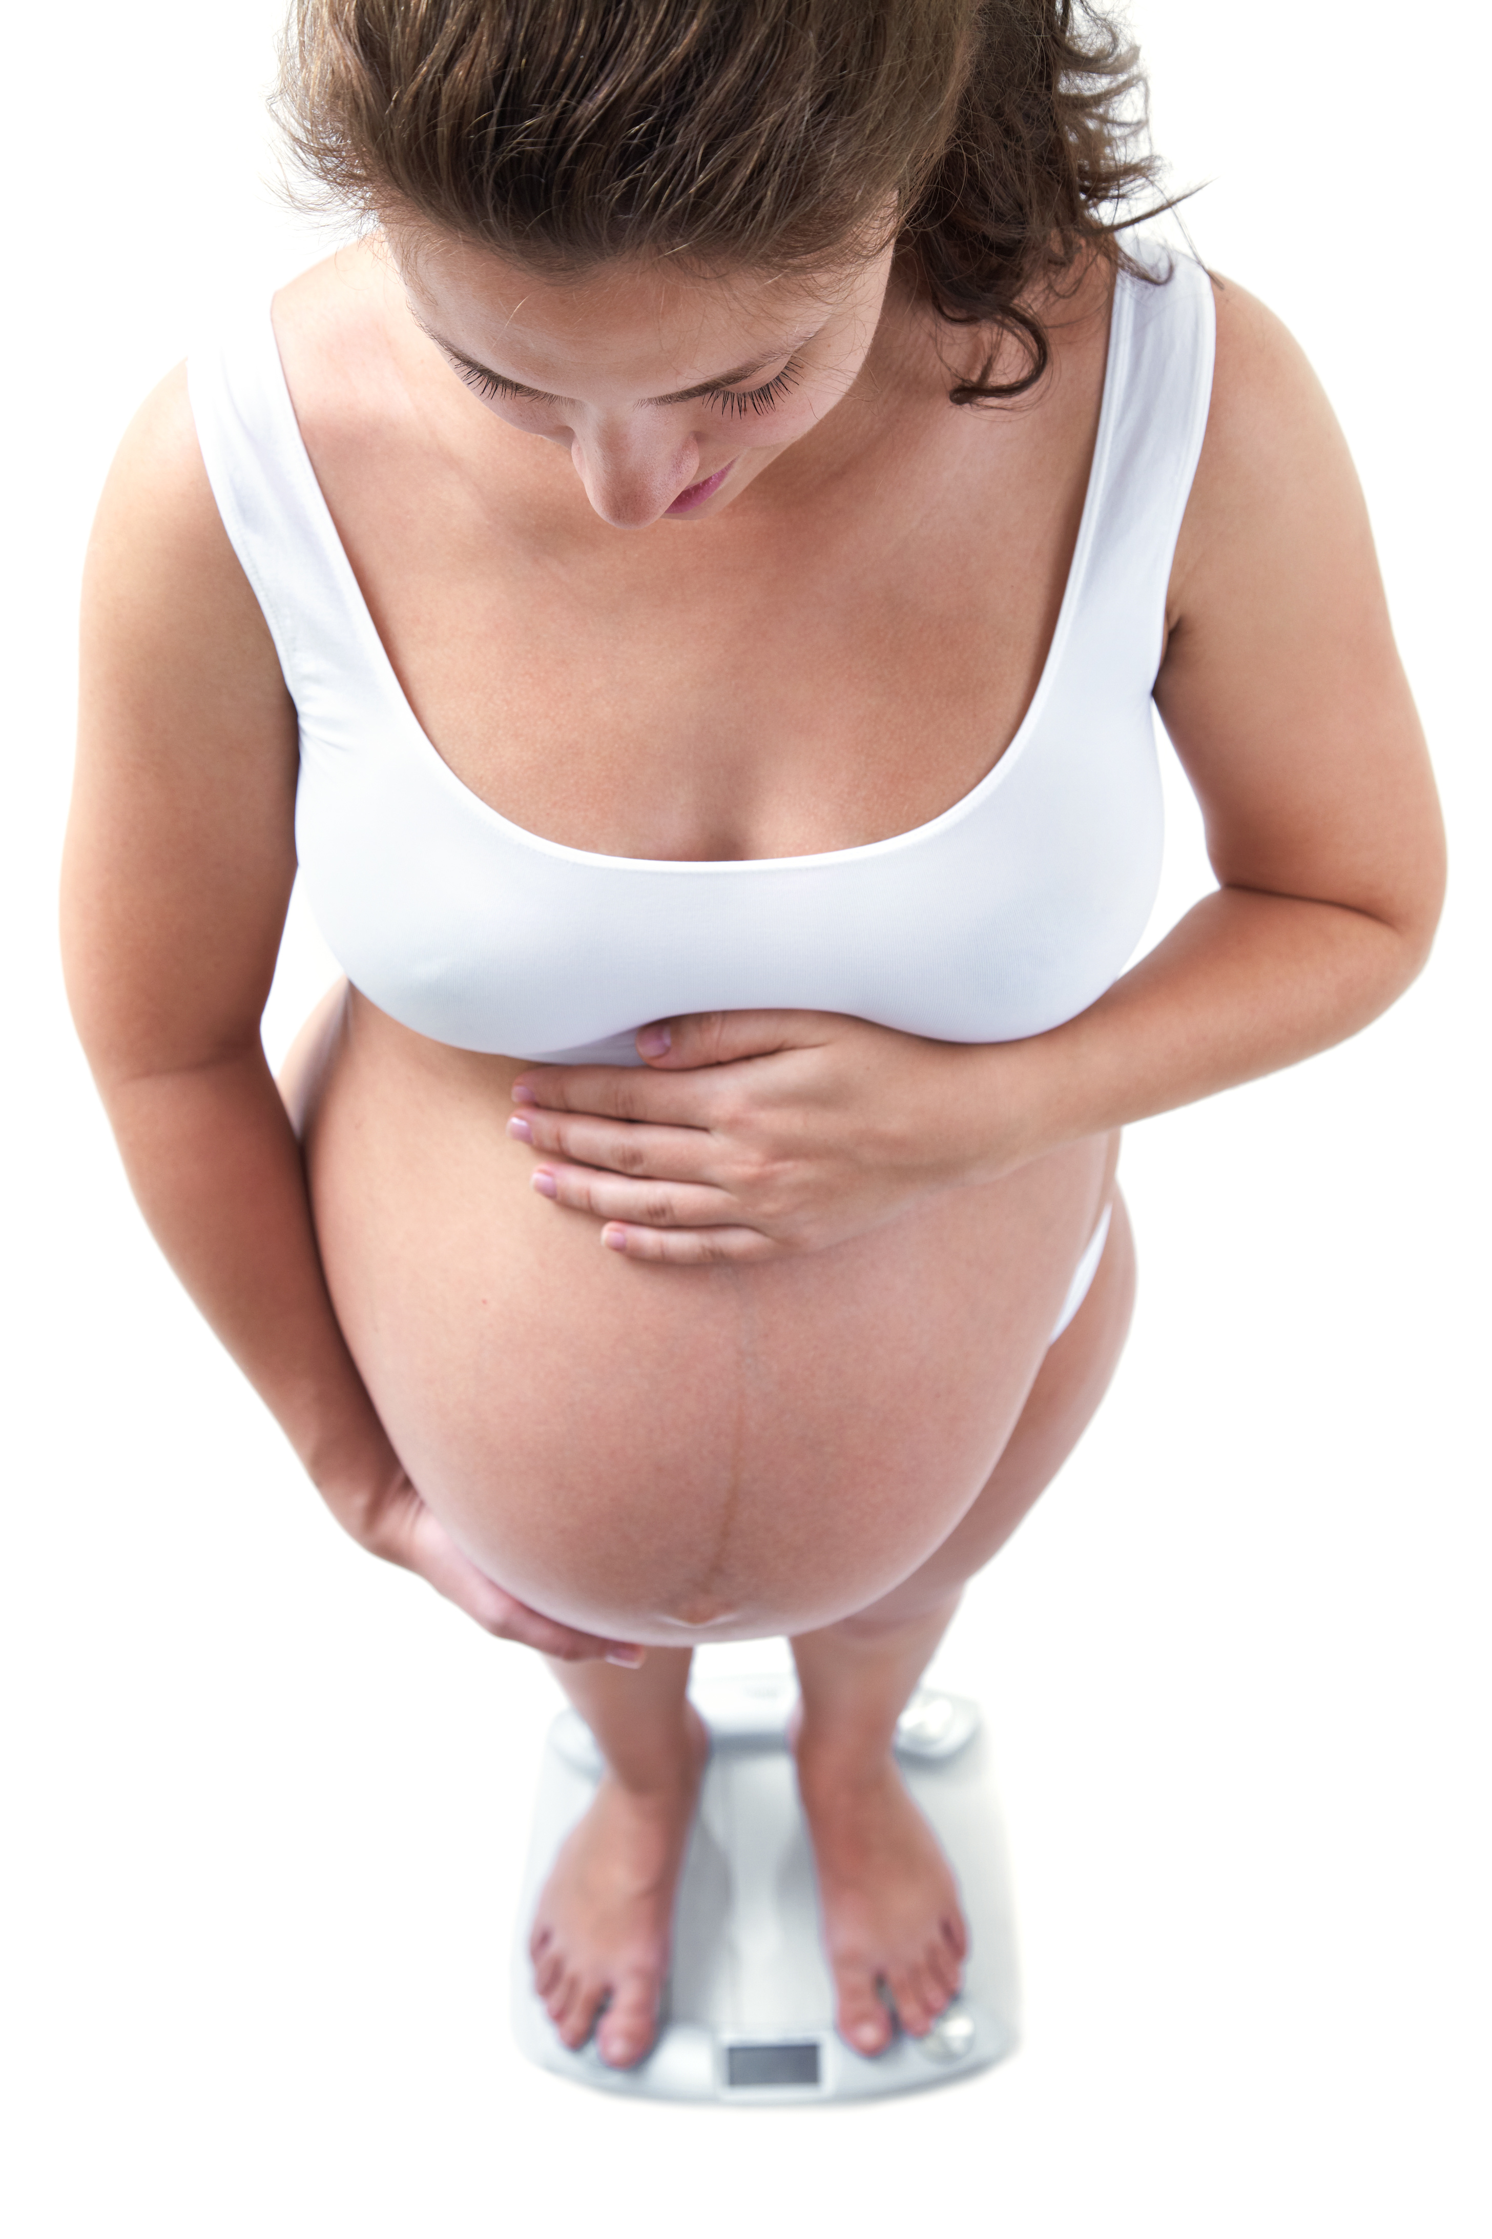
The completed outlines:
{"type": "Polygon", "coordinates": [[[910,2037],[924,2037],[957,1995],[969,1952],[957,1883],[890,1753],[852,1771],[801,1742],[796,1758],[834,1973],[834,2026],[857,2053],[884,2053],[893,2022],[879,1986],[910,2037]]]}

